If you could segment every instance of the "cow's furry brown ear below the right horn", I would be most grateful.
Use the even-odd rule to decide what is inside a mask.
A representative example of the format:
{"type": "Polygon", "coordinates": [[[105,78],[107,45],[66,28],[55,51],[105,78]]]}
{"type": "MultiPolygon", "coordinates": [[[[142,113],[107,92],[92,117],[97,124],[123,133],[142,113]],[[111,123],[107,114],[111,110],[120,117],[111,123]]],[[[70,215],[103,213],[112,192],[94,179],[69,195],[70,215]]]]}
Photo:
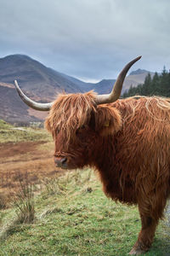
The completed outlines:
{"type": "Polygon", "coordinates": [[[108,136],[116,133],[122,127],[121,114],[116,108],[98,106],[95,115],[95,131],[101,136],[108,136]]]}

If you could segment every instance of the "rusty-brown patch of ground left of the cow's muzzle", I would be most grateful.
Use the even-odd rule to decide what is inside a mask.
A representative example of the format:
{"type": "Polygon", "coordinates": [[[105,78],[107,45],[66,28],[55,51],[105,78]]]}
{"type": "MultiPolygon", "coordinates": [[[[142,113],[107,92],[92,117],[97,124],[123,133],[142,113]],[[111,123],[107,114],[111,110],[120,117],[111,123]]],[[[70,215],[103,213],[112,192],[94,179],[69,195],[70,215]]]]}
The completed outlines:
{"type": "Polygon", "coordinates": [[[8,205],[20,189],[20,179],[38,184],[65,173],[54,166],[53,155],[53,142],[0,143],[0,201],[3,196],[8,205]]]}

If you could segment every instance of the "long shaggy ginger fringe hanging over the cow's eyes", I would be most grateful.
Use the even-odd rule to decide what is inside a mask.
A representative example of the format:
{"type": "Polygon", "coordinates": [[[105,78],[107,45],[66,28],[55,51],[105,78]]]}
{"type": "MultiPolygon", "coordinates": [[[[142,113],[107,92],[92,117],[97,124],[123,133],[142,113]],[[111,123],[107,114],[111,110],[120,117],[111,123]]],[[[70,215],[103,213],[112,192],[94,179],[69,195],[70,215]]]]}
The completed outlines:
{"type": "Polygon", "coordinates": [[[65,146],[69,144],[75,139],[77,129],[88,123],[92,110],[96,111],[95,96],[94,91],[59,95],[45,121],[48,131],[55,134],[61,131],[67,139],[65,146]]]}

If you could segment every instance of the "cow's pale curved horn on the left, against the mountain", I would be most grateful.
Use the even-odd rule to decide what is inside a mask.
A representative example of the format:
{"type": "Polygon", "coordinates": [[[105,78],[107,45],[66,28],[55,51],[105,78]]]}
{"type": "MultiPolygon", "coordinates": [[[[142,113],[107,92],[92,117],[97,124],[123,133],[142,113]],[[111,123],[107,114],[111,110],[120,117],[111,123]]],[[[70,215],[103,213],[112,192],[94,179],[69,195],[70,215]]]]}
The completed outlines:
{"type": "Polygon", "coordinates": [[[26,103],[26,105],[28,105],[29,107],[36,109],[36,110],[40,110],[40,111],[48,111],[50,110],[50,108],[52,107],[54,102],[50,102],[50,103],[39,103],[39,102],[34,102],[32,101],[29,97],[27,97],[22,90],[20,90],[19,84],[17,83],[17,80],[14,80],[14,85],[15,88],[21,98],[21,100],[23,102],[26,103]]]}

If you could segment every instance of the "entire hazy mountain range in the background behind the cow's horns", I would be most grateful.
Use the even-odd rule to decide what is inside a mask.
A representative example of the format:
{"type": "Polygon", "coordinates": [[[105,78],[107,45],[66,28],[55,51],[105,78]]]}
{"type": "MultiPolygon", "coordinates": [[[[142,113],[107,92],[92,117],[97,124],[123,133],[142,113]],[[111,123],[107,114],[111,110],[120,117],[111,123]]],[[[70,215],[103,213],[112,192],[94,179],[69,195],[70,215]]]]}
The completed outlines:
{"type": "MultiPolygon", "coordinates": [[[[123,90],[130,85],[144,82],[147,71],[137,70],[125,79],[123,90]]],[[[27,96],[37,102],[54,101],[59,92],[85,92],[95,90],[99,94],[111,92],[115,79],[103,79],[99,83],[85,83],[42,63],[27,55],[8,55],[0,59],[0,119],[8,122],[33,122],[45,118],[47,113],[37,112],[21,102],[14,89],[14,79],[27,96]]]]}

